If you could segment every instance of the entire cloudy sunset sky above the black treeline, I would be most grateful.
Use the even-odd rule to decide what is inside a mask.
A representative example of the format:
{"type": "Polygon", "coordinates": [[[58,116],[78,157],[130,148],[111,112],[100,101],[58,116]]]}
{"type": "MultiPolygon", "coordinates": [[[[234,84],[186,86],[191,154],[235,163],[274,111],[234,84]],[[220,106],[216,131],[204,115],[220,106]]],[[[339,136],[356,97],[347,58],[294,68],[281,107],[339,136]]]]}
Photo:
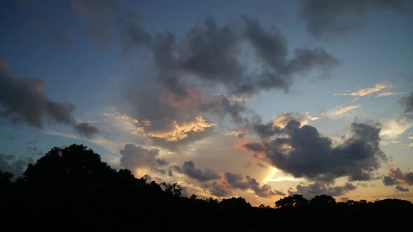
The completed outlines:
{"type": "Polygon", "coordinates": [[[413,201],[410,1],[0,6],[2,171],[77,143],[186,196],[413,201]]]}

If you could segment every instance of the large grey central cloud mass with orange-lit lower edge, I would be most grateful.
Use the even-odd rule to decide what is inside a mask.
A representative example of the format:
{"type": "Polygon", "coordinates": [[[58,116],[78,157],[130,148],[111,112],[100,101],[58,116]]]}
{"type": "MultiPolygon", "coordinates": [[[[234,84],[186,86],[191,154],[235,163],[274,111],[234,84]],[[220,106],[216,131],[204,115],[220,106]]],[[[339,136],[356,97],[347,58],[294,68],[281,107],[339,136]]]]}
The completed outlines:
{"type": "Polygon", "coordinates": [[[177,38],[169,33],[150,34],[136,14],[123,12],[116,1],[74,1],[73,9],[86,20],[94,41],[110,42],[115,36],[124,50],[131,45],[144,48],[139,51],[146,52],[147,70],[128,85],[125,95],[130,106],[120,111],[150,121],[150,125],[137,126],[145,129],[154,145],[171,150],[205,138],[212,131],[181,133],[176,125],[217,115],[221,120],[228,116],[243,126],[248,110],[245,101],[234,99],[248,99],[262,90],[286,90],[297,74],[316,69],[325,72],[339,64],[322,48],[296,48],[288,56],[287,41],[279,29],[266,30],[251,17],[242,17],[243,27],[239,29],[220,26],[207,17],[177,38]],[[258,69],[250,70],[241,61],[243,50],[255,54],[256,59],[248,59],[254,59],[258,69]],[[195,87],[195,83],[207,86],[206,90],[195,87]],[[209,94],[212,86],[226,89],[227,94],[209,94]],[[179,139],[178,133],[185,139],[179,139]]]}

